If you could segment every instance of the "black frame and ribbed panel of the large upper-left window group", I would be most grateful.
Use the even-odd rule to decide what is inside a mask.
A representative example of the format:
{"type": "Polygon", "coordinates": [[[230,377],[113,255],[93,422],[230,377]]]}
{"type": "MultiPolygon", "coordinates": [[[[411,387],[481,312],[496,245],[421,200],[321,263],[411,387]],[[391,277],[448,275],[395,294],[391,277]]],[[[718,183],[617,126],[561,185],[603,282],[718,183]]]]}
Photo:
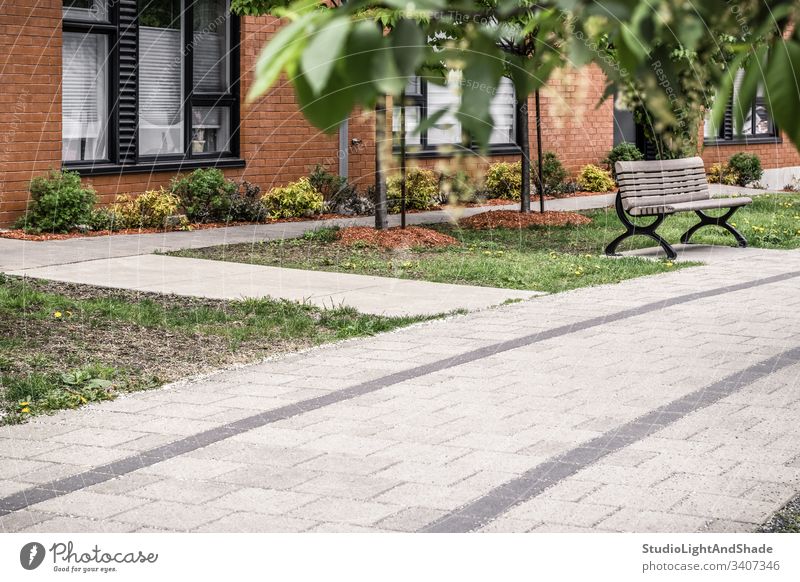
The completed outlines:
{"type": "MultiPolygon", "coordinates": [[[[182,14],[182,72],[183,76],[183,142],[184,151],[178,154],[140,155],[138,148],[139,133],[139,24],[137,0],[106,0],[108,9],[106,22],[84,21],[63,18],[64,32],[93,32],[108,35],[108,158],[105,160],[62,160],[64,169],[75,170],[81,175],[95,176],[123,173],[147,173],[158,171],[182,171],[195,168],[243,167],[240,144],[240,111],[241,111],[241,79],[240,79],[240,45],[241,24],[239,17],[230,12],[226,18],[228,41],[228,91],[224,93],[195,92],[193,88],[194,46],[193,8],[196,0],[184,0],[182,14]],[[130,15],[121,17],[122,13],[130,15]],[[121,62],[132,63],[122,72],[121,62]],[[120,102],[123,101],[121,90],[128,92],[128,101],[134,114],[120,114],[120,102]],[[229,151],[225,152],[192,152],[192,107],[228,107],[230,112],[229,151]],[[124,117],[124,118],[123,118],[124,117]],[[123,118],[123,119],[121,119],[123,118]],[[124,127],[121,126],[124,125],[124,127]],[[121,134],[126,134],[127,143],[120,142],[121,134]]],[[[63,4],[62,4],[63,5],[63,4]]]]}

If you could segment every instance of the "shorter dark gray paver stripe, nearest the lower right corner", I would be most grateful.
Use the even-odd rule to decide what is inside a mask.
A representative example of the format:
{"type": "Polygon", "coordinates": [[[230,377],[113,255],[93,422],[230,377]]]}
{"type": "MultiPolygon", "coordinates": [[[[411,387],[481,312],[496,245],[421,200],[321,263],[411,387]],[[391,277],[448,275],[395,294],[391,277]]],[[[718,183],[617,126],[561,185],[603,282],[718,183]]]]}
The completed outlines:
{"type": "Polygon", "coordinates": [[[688,414],[718,402],[745,386],[800,363],[800,346],[731,374],[705,388],[659,406],[582,445],[536,465],[516,479],[489,491],[455,511],[429,523],[420,531],[464,533],[474,531],[516,505],[533,499],[559,481],[575,475],[611,453],[640,441],[688,414]]]}

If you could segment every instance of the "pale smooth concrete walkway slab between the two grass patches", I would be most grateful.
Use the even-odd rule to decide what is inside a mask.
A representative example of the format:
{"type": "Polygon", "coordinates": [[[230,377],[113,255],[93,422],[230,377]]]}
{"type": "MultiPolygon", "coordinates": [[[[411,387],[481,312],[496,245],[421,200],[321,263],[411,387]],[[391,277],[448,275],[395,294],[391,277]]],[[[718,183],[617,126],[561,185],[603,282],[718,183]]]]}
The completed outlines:
{"type": "Polygon", "coordinates": [[[378,315],[435,315],[543,293],[348,273],[304,271],[164,255],[99,259],[12,271],[37,279],[212,299],[273,297],[378,315]]]}

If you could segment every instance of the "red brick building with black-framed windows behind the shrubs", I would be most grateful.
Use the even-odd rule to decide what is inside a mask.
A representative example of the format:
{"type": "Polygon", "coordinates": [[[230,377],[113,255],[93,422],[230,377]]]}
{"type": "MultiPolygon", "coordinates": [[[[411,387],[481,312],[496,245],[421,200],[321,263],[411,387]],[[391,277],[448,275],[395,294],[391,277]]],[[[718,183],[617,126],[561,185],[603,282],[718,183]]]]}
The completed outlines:
{"type": "MultiPolygon", "coordinates": [[[[279,23],[237,18],[227,7],[227,0],[6,3],[0,14],[0,226],[24,212],[31,178],[50,168],[79,171],[103,202],[206,166],[263,189],[306,175],[318,163],[362,187],[371,184],[371,113],[356,113],[346,131],[326,134],[302,118],[286,84],[257,103],[243,102],[258,54],[279,23]]],[[[630,120],[611,101],[596,107],[602,92],[602,73],[588,68],[561,75],[542,94],[544,149],[571,172],[597,163],[615,141],[634,139],[630,120]]],[[[508,95],[498,92],[496,120],[503,121],[491,153],[472,157],[478,165],[517,159],[508,95]]],[[[416,98],[424,112],[448,97],[421,87],[416,98]]],[[[407,111],[413,117],[413,108],[407,111]]],[[[800,165],[794,147],[769,124],[758,134],[764,129],[759,114],[754,111],[755,133],[746,143],[719,135],[705,147],[706,161],[746,148],[767,168],[800,165]]],[[[535,143],[532,120],[530,128],[535,143]]],[[[412,146],[420,165],[447,160],[441,147],[448,129],[429,133],[412,146]]]]}

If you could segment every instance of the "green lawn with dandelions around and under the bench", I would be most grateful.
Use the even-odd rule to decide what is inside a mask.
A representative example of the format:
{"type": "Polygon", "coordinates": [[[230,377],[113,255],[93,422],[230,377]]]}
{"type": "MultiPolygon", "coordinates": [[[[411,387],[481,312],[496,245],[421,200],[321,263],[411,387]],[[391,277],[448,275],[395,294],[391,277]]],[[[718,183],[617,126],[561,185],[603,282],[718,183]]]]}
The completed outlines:
{"type": "MultiPolygon", "coordinates": [[[[470,230],[432,225],[461,243],[444,249],[382,250],[345,247],[335,229],[322,229],[299,239],[235,244],[171,253],[178,256],[253,263],[297,269],[361,273],[491,287],[558,292],[590,285],[663,273],[696,263],[652,261],[634,257],[610,260],[605,245],[623,232],[613,208],[586,212],[592,223],[582,226],[470,230]]],[[[652,219],[644,219],[646,223],[652,219]]],[[[668,217],[659,232],[677,242],[696,222],[694,214],[668,217]]],[[[800,247],[800,196],[758,197],[733,222],[753,246],[800,247]]],[[[708,227],[693,242],[734,244],[719,228],[708,227]]],[[[652,246],[646,237],[628,239],[620,250],[652,246]]]]}

